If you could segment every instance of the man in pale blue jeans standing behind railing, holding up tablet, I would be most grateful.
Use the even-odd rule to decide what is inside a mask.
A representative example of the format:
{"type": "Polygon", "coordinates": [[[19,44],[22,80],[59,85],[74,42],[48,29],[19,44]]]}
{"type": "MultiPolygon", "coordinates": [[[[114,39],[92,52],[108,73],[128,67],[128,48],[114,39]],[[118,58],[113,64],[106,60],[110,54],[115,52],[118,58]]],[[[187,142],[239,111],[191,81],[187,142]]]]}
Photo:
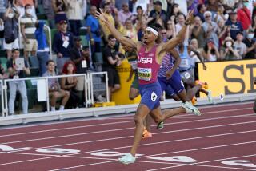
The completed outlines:
{"type": "MultiPolygon", "coordinates": [[[[10,79],[18,79],[18,78],[25,78],[26,75],[30,75],[30,69],[27,65],[27,62],[25,60],[24,67],[22,70],[18,69],[18,66],[16,65],[17,58],[20,57],[20,51],[18,49],[12,50],[12,58],[7,61],[7,69],[9,72],[9,78],[10,79]]],[[[10,99],[9,99],[9,113],[10,115],[14,114],[14,101],[16,98],[16,92],[17,90],[22,96],[22,112],[27,113],[28,110],[28,101],[27,101],[27,95],[26,95],[26,84],[25,81],[10,81],[9,82],[9,89],[10,89],[10,99]]]]}

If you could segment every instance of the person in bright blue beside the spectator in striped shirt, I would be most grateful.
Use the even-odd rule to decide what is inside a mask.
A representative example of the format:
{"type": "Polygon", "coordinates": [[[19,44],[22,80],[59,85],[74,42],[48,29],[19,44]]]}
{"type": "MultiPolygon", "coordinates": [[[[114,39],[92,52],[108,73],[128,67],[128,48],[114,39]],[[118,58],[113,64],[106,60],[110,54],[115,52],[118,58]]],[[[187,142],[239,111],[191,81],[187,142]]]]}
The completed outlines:
{"type": "Polygon", "coordinates": [[[36,23],[35,37],[38,41],[37,57],[39,62],[39,76],[46,72],[46,62],[49,60],[49,46],[47,43],[46,34],[44,33],[45,22],[36,23]]]}

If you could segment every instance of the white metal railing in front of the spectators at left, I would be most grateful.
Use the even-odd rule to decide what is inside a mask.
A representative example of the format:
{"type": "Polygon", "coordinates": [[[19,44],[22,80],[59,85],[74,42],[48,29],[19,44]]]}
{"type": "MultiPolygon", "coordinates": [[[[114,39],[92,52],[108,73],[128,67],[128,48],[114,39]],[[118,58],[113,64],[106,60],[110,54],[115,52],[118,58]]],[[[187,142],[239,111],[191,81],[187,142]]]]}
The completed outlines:
{"type": "MultiPolygon", "coordinates": [[[[19,82],[19,81],[35,81],[36,83],[34,83],[34,85],[37,85],[37,95],[38,95],[38,86],[40,85],[40,90],[42,91],[42,89],[46,89],[46,113],[50,112],[50,97],[49,97],[49,86],[48,86],[48,79],[50,78],[67,78],[67,77],[84,77],[84,82],[83,82],[83,86],[84,88],[84,101],[85,101],[85,105],[86,108],[92,106],[94,104],[94,83],[93,83],[93,75],[102,75],[105,74],[106,77],[106,82],[102,82],[102,84],[105,84],[106,87],[106,97],[108,97],[108,89],[107,89],[107,73],[106,72],[101,72],[101,73],[90,73],[90,74],[71,74],[71,75],[56,75],[56,76],[51,76],[51,77],[37,77],[37,78],[19,78],[19,79],[6,79],[6,80],[0,80],[0,85],[2,85],[2,89],[1,89],[1,102],[2,102],[2,117],[6,117],[8,116],[8,88],[7,85],[9,84],[9,82],[19,82]],[[38,84],[38,81],[40,80],[44,80],[44,82],[38,84]],[[43,85],[45,85],[45,87],[42,87],[43,85]]],[[[60,84],[60,82],[59,82],[60,84]]],[[[32,82],[31,82],[31,85],[32,82]]],[[[28,91],[28,87],[26,87],[26,90],[28,91]]],[[[28,94],[27,94],[28,97],[28,94]]],[[[33,98],[33,97],[28,97],[29,98],[33,98]]],[[[109,99],[107,98],[107,101],[109,101],[109,99]]],[[[37,102],[39,102],[37,100],[37,102]]]]}

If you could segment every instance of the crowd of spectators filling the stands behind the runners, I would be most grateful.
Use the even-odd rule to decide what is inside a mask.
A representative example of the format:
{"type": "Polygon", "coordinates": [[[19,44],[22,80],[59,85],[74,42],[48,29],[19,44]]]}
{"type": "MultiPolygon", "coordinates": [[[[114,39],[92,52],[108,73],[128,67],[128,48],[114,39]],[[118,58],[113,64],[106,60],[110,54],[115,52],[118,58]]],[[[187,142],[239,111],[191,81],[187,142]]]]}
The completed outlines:
{"type": "MultiPolygon", "coordinates": [[[[254,0],[0,0],[0,78],[103,70],[108,73],[110,92],[120,89],[116,66],[122,65],[124,50],[106,25],[95,18],[99,8],[113,26],[134,41],[141,41],[143,30],[154,23],[162,26],[159,34],[163,41],[176,37],[188,10],[194,8],[194,22],[186,30],[183,46],[198,53],[178,48],[180,56],[186,53],[193,58],[192,67],[200,62],[198,55],[204,62],[256,57],[254,0]],[[50,39],[44,25],[51,29],[54,61],[50,60],[50,39]],[[15,66],[15,58],[20,57],[25,59],[22,70],[15,66]],[[30,72],[32,68],[38,70],[30,72]]],[[[79,78],[49,82],[51,110],[59,97],[63,98],[60,109],[64,109],[69,98],[84,90],[82,82],[79,78]]],[[[27,113],[25,83],[10,82],[10,87],[10,114],[14,113],[16,90],[23,92],[23,113],[27,113]]],[[[82,104],[70,101],[71,108],[82,104]]]]}

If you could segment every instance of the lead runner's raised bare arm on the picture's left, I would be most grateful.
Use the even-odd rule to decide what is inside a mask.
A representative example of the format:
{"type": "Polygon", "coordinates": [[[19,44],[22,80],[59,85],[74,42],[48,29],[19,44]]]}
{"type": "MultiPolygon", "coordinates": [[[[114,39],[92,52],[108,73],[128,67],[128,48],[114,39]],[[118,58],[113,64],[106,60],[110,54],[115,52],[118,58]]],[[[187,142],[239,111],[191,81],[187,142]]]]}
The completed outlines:
{"type": "Polygon", "coordinates": [[[104,22],[106,24],[106,26],[110,30],[111,34],[113,34],[114,38],[118,39],[119,42],[121,42],[122,44],[124,44],[126,46],[137,49],[138,42],[134,42],[131,39],[124,37],[118,30],[116,30],[114,28],[114,26],[112,26],[110,24],[110,22],[108,21],[108,19],[106,17],[106,14],[103,12],[102,9],[100,9],[100,12],[97,11],[96,18],[98,18],[99,20],[101,20],[102,22],[104,22]]]}

